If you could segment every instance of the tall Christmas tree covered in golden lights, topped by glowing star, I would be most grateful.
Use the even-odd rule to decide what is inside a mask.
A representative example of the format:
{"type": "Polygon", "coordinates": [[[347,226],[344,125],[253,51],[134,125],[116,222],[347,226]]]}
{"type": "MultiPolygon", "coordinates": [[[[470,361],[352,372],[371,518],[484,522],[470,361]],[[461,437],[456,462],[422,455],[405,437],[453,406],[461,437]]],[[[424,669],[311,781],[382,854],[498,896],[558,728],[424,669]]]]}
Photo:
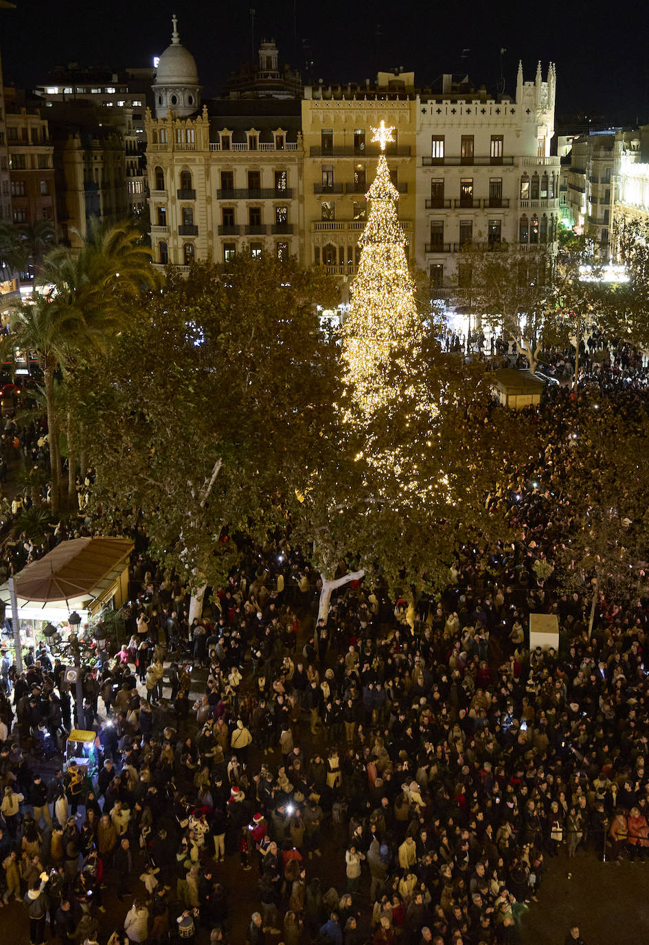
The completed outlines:
{"type": "MultiPolygon", "coordinates": [[[[373,129],[381,154],[376,177],[365,195],[370,215],[358,240],[361,247],[358,276],[350,288],[349,315],[342,327],[342,356],[347,383],[361,418],[398,396],[389,380],[395,358],[413,352],[422,338],[414,286],[408,270],[407,239],[399,223],[399,193],[391,181],[385,146],[393,141],[385,122],[373,129]]],[[[402,369],[407,369],[403,362],[402,369]]]]}

